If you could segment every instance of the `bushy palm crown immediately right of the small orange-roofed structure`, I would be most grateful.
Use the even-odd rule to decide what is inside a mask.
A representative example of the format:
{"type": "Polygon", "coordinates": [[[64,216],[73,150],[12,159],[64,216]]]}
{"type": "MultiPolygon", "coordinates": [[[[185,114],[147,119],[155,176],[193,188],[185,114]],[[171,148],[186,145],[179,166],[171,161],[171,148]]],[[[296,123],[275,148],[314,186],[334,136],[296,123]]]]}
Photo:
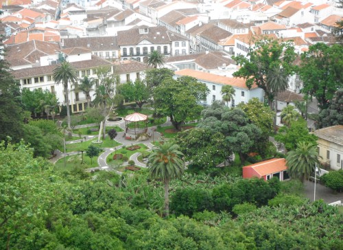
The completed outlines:
{"type": "Polygon", "coordinates": [[[289,176],[304,182],[316,170],[319,165],[318,151],[316,146],[304,141],[296,144],[296,149],[289,151],[286,156],[289,176]]]}

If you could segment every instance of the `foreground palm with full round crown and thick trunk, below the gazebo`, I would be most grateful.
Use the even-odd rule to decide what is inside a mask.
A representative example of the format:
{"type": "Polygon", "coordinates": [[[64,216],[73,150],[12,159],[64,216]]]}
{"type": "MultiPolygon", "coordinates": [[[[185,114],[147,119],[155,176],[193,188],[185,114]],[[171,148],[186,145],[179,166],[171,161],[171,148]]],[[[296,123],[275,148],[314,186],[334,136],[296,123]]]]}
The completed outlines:
{"type": "Polygon", "coordinates": [[[184,155],[178,149],[177,144],[165,141],[164,144],[154,147],[147,159],[150,176],[165,184],[164,216],[169,215],[169,181],[181,177],[185,170],[185,161],[182,159],[184,155]]]}

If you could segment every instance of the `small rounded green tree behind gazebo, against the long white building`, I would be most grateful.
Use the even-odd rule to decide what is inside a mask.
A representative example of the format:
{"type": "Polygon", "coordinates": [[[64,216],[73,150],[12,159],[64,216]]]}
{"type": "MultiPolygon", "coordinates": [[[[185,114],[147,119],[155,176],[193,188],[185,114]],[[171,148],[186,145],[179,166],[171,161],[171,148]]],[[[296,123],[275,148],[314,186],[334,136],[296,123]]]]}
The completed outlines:
{"type": "Polygon", "coordinates": [[[118,88],[121,95],[123,95],[124,100],[136,102],[140,109],[150,98],[150,91],[147,88],[147,85],[139,79],[134,82],[130,81],[121,84],[118,88]]]}

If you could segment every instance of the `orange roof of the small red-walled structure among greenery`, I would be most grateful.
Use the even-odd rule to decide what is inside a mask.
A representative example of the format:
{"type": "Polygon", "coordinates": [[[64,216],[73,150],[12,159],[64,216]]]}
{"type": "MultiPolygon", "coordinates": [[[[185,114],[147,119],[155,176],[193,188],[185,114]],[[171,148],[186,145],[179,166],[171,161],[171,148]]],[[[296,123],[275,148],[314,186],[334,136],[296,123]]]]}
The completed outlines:
{"type": "Polygon", "coordinates": [[[243,168],[252,168],[254,169],[260,177],[263,177],[267,174],[273,174],[276,172],[281,172],[287,170],[285,158],[279,159],[270,159],[268,161],[261,161],[243,168]]]}

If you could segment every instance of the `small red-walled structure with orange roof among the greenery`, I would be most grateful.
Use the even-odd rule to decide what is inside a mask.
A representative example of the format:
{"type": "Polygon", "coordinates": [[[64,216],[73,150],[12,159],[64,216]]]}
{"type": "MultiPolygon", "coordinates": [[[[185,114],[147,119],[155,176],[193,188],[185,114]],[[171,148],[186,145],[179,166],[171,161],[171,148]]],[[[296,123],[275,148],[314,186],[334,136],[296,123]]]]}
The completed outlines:
{"type": "Polygon", "coordinates": [[[243,167],[243,178],[262,178],[265,181],[278,177],[280,181],[289,179],[285,158],[270,159],[243,167]]]}

